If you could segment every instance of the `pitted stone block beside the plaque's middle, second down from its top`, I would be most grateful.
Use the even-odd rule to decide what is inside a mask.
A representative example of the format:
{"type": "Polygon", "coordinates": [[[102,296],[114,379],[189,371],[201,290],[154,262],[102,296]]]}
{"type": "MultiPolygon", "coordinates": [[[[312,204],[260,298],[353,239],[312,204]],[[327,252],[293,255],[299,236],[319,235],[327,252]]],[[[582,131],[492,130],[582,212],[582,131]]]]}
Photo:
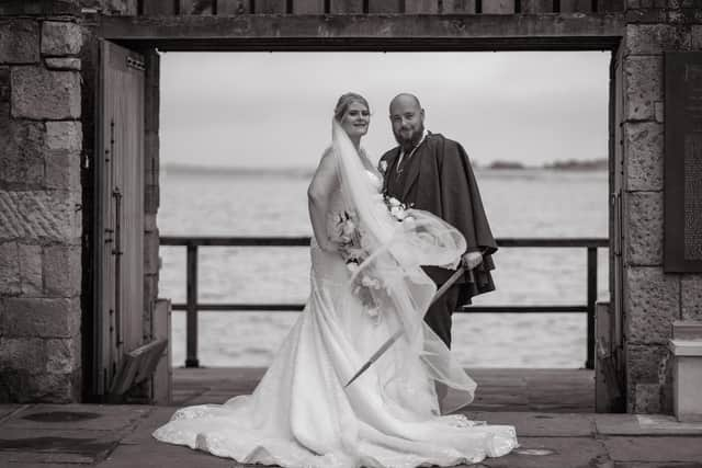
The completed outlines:
{"type": "Polygon", "coordinates": [[[663,191],[664,128],[654,122],[624,124],[626,190],[663,191]]]}

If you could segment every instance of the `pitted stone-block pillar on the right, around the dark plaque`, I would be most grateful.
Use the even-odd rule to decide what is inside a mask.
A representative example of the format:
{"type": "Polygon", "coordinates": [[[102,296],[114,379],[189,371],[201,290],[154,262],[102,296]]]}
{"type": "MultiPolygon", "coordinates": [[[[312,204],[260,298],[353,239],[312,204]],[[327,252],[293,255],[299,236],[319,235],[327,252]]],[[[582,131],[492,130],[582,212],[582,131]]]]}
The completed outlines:
{"type": "Polygon", "coordinates": [[[627,1],[623,41],[624,353],[627,411],[672,411],[671,324],[702,315],[700,275],[664,273],[664,52],[699,50],[686,1],[627,1]],[[660,3],[660,4],[658,4],[660,3]],[[652,8],[658,7],[658,8],[652,8]],[[684,311],[684,312],[683,312],[684,311]]]}

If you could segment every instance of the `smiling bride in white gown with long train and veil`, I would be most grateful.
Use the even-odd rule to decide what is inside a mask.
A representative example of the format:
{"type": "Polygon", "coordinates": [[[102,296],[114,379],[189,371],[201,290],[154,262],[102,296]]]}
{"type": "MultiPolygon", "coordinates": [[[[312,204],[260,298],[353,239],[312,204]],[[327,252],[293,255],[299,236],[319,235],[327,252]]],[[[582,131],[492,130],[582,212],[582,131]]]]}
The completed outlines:
{"type": "Polygon", "coordinates": [[[364,98],[339,99],[332,145],[308,190],[309,299],[253,393],[182,408],[154,437],[291,468],[453,466],[518,446],[513,426],[448,414],[472,401],[476,385],[422,320],[435,286],[420,265],[455,267],[465,240],[438,217],[384,199],[360,146],[369,123],[364,98]],[[438,386],[449,389],[441,398],[438,386]]]}

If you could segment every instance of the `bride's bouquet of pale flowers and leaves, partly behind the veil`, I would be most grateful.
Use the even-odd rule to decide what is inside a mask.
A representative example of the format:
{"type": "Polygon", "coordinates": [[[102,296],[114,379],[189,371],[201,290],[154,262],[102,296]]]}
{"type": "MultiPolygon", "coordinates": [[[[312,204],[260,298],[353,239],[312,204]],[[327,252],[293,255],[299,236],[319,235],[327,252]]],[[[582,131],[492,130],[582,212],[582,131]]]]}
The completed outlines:
{"type": "MultiPolygon", "coordinates": [[[[407,214],[407,205],[387,194],[381,195],[385,208],[397,222],[412,222],[414,218],[407,214]]],[[[336,240],[340,243],[341,258],[351,274],[355,275],[353,293],[361,299],[371,317],[377,317],[378,305],[374,296],[385,287],[381,276],[372,276],[366,271],[360,272],[360,265],[370,255],[367,242],[364,242],[363,229],[360,227],[358,215],[343,212],[337,215],[336,240]]]]}

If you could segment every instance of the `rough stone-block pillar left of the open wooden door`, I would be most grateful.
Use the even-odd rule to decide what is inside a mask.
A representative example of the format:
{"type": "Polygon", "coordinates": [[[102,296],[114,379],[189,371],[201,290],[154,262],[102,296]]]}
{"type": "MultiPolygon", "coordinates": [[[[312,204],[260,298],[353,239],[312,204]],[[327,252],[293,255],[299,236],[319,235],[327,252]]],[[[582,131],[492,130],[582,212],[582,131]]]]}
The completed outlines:
{"type": "Polygon", "coordinates": [[[0,7],[0,402],[80,400],[77,5],[0,7]]]}

